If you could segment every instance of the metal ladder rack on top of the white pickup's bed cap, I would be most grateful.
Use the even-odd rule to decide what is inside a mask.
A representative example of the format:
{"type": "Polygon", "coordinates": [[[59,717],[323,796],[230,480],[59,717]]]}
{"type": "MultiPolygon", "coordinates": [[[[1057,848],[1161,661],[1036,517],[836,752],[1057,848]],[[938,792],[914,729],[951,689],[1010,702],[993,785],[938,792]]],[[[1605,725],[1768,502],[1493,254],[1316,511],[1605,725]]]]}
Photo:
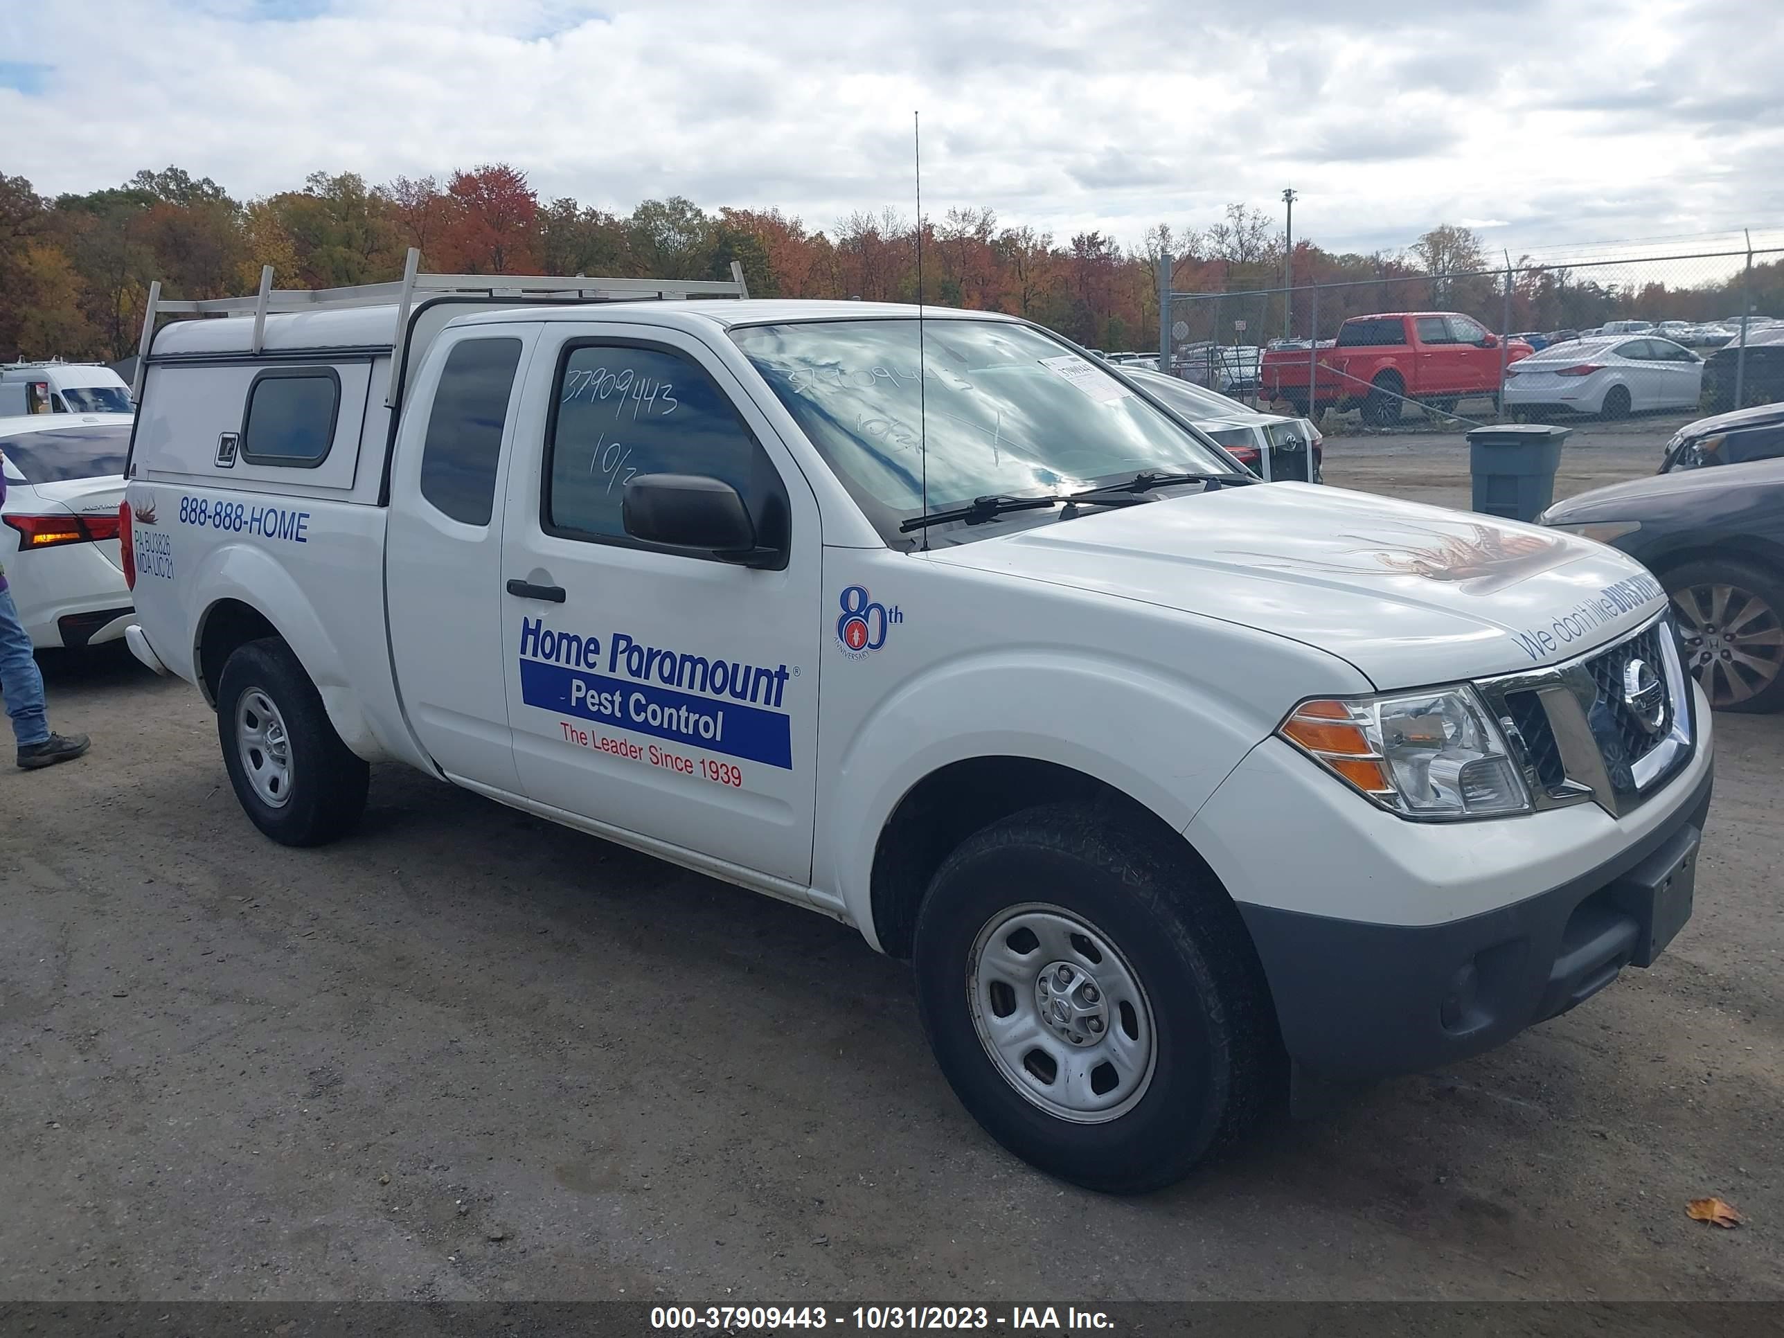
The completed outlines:
{"type": "MultiPolygon", "coordinates": [[[[137,348],[136,384],[132,398],[143,398],[143,373],[148,369],[148,346],[155,337],[157,316],[253,316],[255,353],[266,335],[266,318],[273,314],[339,310],[343,307],[382,307],[396,303],[396,334],[392,357],[403,359],[403,341],[409,337],[409,312],[416,298],[516,298],[573,300],[573,301],[639,301],[665,298],[747,298],[744,268],[731,260],[730,278],[598,278],[589,275],[425,275],[421,252],[409,248],[403,277],[392,284],[357,284],[353,287],[275,289],[273,266],[260,266],[260,291],[252,298],[202,298],[198,301],[162,301],[161,280],[148,285],[148,303],[143,310],[143,343],[137,348]]],[[[391,405],[398,387],[391,378],[391,405]]]]}

